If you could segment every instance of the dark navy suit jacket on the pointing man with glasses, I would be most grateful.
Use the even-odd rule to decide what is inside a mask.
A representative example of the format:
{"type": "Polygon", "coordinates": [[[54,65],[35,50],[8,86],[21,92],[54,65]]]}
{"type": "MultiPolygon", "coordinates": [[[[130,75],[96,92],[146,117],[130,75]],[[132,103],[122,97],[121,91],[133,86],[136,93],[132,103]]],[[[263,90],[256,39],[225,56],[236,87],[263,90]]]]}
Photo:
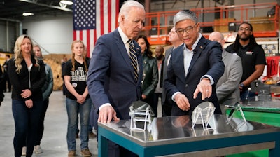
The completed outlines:
{"type": "MultiPolygon", "coordinates": [[[[200,83],[200,78],[205,74],[212,76],[214,83],[223,75],[224,64],[222,61],[221,44],[216,41],[209,41],[203,36],[193,50],[193,59],[190,62],[187,76],[183,66],[183,48],[179,46],[172,51],[170,62],[167,68],[167,78],[165,79],[165,90],[167,97],[172,97],[174,93],[181,92],[190,102],[190,110],[182,111],[177,105],[172,107],[172,116],[191,115],[198,104],[204,102],[202,94],[199,93],[196,99],[193,99],[193,93],[200,83]]],[[[213,102],[216,114],[221,114],[221,108],[216,95],[215,84],[212,87],[213,94],[206,101],[213,102]]]]}

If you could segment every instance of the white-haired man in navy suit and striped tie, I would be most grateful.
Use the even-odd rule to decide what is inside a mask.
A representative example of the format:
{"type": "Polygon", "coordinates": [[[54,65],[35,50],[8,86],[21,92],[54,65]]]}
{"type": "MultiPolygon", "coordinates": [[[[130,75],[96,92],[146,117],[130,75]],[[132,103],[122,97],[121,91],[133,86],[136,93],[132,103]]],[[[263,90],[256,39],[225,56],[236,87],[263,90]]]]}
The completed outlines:
{"type": "MultiPolygon", "coordinates": [[[[120,8],[118,29],[97,40],[87,86],[99,123],[130,119],[130,105],[141,100],[143,61],[141,48],[133,39],[141,32],[144,20],[144,6],[125,1],[120,8]]],[[[113,142],[110,145],[109,156],[134,156],[113,142]]]]}

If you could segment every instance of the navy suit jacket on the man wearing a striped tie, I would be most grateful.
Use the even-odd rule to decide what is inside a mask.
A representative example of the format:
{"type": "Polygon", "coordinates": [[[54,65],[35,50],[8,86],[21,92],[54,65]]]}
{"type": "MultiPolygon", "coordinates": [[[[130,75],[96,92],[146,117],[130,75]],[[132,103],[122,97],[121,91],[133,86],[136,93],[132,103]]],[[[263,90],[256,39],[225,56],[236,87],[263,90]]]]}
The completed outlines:
{"type": "Polygon", "coordinates": [[[118,29],[99,37],[87,74],[88,92],[95,109],[98,111],[102,104],[110,103],[120,119],[129,119],[130,105],[141,100],[143,61],[140,46],[133,42],[139,64],[138,81],[134,79],[130,57],[118,29]]]}

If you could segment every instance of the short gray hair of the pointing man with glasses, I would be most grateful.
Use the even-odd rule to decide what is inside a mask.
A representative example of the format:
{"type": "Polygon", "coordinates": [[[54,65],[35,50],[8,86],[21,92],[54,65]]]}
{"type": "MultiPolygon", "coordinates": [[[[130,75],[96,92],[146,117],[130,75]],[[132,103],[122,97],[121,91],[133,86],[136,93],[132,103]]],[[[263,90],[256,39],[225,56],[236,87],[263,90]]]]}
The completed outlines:
{"type": "Polygon", "coordinates": [[[195,13],[190,10],[183,10],[176,13],[176,15],[173,18],[174,26],[176,25],[177,22],[180,22],[181,20],[193,20],[195,23],[198,22],[195,13]]]}

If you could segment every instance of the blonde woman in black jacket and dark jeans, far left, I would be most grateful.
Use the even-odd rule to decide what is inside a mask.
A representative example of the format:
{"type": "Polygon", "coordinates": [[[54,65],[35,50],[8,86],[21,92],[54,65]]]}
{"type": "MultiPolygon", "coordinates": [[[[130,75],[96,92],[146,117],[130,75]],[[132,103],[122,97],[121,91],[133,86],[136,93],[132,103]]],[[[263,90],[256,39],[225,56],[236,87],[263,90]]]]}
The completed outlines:
{"type": "Polygon", "coordinates": [[[31,157],[36,140],[39,117],[43,109],[42,86],[45,83],[45,66],[35,57],[29,36],[22,35],[15,41],[15,58],[8,63],[8,75],[12,90],[12,111],[15,120],[13,145],[15,157],[31,157]]]}

